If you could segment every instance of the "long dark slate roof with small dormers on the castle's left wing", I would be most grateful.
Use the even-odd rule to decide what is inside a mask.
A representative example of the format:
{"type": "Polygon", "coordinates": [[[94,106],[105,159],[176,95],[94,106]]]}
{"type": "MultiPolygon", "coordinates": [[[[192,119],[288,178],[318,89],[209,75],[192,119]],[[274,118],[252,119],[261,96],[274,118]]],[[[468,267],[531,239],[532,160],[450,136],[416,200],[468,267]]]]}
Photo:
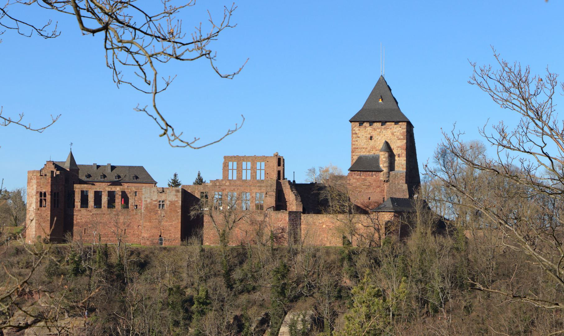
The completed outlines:
{"type": "MultiPolygon", "coordinates": [[[[62,161],[54,163],[61,168],[66,164],[62,161]]],[[[142,165],[109,165],[108,169],[108,165],[97,164],[94,168],[94,164],[74,164],[77,165],[78,178],[85,182],[157,183],[142,165]]]]}

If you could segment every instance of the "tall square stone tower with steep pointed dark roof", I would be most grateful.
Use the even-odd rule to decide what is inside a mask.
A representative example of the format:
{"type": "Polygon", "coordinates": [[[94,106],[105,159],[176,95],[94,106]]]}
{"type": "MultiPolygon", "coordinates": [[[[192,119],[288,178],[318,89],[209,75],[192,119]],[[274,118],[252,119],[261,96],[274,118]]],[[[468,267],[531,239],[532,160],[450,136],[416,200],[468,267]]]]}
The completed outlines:
{"type": "Polygon", "coordinates": [[[389,197],[412,198],[420,186],[413,125],[399,109],[384,76],[350,120],[353,202],[370,211],[389,197]]]}

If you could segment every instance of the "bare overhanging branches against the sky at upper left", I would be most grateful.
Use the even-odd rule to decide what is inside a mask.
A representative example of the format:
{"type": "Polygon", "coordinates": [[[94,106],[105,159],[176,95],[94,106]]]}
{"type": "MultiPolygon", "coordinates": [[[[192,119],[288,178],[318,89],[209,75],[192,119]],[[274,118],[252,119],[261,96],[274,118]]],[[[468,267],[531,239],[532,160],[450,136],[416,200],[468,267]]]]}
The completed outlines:
{"type": "MultiPolygon", "coordinates": [[[[144,112],[155,121],[161,130],[160,137],[166,137],[170,146],[198,149],[221,141],[236,132],[243,125],[244,118],[241,125],[235,124],[235,128],[228,129],[219,139],[205,145],[196,145],[199,138],[183,137],[183,132],[175,130],[157,107],[157,94],[166,90],[175,78],[175,76],[159,76],[157,65],[168,63],[170,60],[192,61],[204,58],[209,60],[211,68],[217,75],[222,78],[233,78],[245,64],[235,72],[220,72],[214,64],[216,53],[211,50],[210,43],[217,40],[224,29],[236,26],[231,23],[231,16],[237,7],[234,4],[229,8],[224,7],[223,18],[219,21],[214,21],[208,12],[209,30],[202,28],[200,23],[196,24],[193,32],[186,33],[182,27],[182,18],[177,18],[177,15],[183,14],[188,8],[194,6],[195,1],[188,0],[187,3],[179,6],[171,6],[170,2],[171,0],[161,0],[162,7],[156,9],[158,7],[153,8],[146,4],[138,5],[135,0],[126,2],[121,0],[14,0],[0,7],[0,25],[27,37],[34,33],[43,38],[58,37],[60,32],[57,30],[56,23],[52,27],[51,20],[43,25],[36,25],[8,14],[12,6],[37,5],[42,10],[70,15],[76,20],[83,34],[103,34],[106,65],[112,71],[114,83],[117,86],[130,85],[136,90],[151,95],[150,109],[147,106],[138,105],[135,110],[144,112]],[[134,68],[132,76],[125,76],[124,69],[130,67],[134,68]]],[[[0,118],[3,120],[2,125],[14,123],[42,132],[59,116],[52,117],[51,124],[42,128],[25,125],[22,122],[23,114],[20,114],[18,120],[12,120],[9,117],[2,117],[0,110],[0,118]]]]}

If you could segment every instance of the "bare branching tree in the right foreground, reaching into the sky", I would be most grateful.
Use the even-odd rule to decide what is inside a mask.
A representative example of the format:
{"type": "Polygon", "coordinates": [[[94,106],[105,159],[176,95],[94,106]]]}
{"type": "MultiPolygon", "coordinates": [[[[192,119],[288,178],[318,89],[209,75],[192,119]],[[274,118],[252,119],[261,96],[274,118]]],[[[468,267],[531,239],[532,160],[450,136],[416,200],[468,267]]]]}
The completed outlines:
{"type": "MultiPolygon", "coordinates": [[[[482,228],[493,229],[499,246],[527,256],[529,263],[519,267],[540,267],[549,286],[527,291],[516,278],[481,283],[471,280],[473,289],[505,296],[509,302],[521,301],[545,309],[562,309],[564,298],[564,128],[557,119],[553,96],[558,83],[555,73],[532,76],[530,68],[509,63],[494,50],[499,68],[477,67],[469,83],[486,92],[501,108],[517,113],[514,128],[503,121],[494,125],[492,132],[485,126],[482,136],[496,149],[493,158],[475,155],[462,133],[454,130],[444,133],[439,152],[449,156],[448,164],[426,166],[426,173],[459,199],[444,199],[456,206],[470,208],[483,217],[482,228]],[[473,183],[475,178],[495,181],[473,183]]],[[[554,331],[549,335],[563,333],[554,331]]]]}

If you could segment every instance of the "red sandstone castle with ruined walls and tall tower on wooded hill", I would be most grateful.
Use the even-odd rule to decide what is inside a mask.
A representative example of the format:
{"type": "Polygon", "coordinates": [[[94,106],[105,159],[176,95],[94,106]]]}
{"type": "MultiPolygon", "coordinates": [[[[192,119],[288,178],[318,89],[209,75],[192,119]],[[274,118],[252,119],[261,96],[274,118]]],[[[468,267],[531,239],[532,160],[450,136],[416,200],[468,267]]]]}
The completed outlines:
{"type": "Polygon", "coordinates": [[[265,237],[279,245],[377,245],[415,211],[420,179],[413,125],[383,76],[349,122],[351,167],[335,177],[337,187],[287,180],[278,153],[224,156],[221,180],[175,188],[157,187],[142,166],[79,165],[71,151],[65,162],[28,171],[26,241],[171,246],[197,236],[204,245],[265,237]],[[324,210],[324,190],[346,195],[347,210],[324,210]]]}

